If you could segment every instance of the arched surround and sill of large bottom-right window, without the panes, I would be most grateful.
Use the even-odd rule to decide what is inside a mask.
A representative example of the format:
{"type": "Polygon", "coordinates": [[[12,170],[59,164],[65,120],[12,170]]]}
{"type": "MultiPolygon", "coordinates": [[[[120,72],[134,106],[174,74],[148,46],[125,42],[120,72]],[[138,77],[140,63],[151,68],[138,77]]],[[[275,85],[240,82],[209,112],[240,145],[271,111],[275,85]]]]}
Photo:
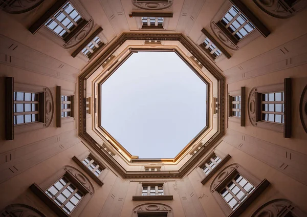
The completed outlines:
{"type": "Polygon", "coordinates": [[[230,164],[222,171],[220,171],[212,181],[210,185],[210,191],[218,203],[221,209],[228,217],[239,216],[244,210],[263,192],[268,186],[270,182],[266,179],[260,181],[258,178],[254,177],[251,173],[249,173],[245,168],[240,166],[239,164],[230,164]],[[232,210],[228,203],[222,197],[220,193],[225,186],[237,175],[242,176],[246,179],[250,184],[252,184],[255,189],[249,196],[235,209],[232,210]]]}

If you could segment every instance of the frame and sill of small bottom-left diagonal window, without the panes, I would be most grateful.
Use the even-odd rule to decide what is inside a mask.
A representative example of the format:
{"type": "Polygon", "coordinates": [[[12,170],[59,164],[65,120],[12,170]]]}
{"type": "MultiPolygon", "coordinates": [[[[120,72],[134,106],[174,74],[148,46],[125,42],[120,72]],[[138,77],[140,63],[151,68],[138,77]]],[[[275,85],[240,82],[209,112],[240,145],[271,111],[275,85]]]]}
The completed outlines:
{"type": "Polygon", "coordinates": [[[84,172],[87,173],[87,175],[89,175],[99,186],[102,186],[103,183],[103,179],[105,178],[106,174],[108,173],[109,169],[108,167],[102,163],[99,158],[97,158],[94,153],[92,153],[91,151],[85,151],[83,154],[79,155],[79,156],[74,156],[73,161],[75,163],[78,164],[78,166],[80,166],[84,172]],[[83,164],[83,160],[87,157],[91,157],[92,160],[98,164],[98,166],[100,168],[102,168],[102,171],[100,172],[99,176],[96,176],[95,173],[93,172],[93,170],[90,170],[89,168],[87,168],[86,165],[83,164]]]}

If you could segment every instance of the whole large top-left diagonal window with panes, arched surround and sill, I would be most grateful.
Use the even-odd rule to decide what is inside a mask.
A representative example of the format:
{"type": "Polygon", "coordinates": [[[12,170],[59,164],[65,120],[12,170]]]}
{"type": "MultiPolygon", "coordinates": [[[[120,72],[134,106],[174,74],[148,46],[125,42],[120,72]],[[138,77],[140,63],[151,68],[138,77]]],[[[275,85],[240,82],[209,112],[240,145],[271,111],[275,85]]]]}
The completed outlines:
{"type": "Polygon", "coordinates": [[[93,29],[94,21],[79,0],[58,0],[30,26],[59,46],[68,49],[81,42],[93,29]]]}

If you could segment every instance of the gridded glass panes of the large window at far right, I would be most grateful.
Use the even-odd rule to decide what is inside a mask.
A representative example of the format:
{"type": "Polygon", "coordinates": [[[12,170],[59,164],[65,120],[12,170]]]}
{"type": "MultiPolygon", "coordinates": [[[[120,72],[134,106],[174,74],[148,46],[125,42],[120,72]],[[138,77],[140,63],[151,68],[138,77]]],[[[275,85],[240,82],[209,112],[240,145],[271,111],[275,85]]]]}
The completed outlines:
{"type": "Polygon", "coordinates": [[[261,120],[284,123],[284,92],[263,93],[261,101],[261,120]]]}

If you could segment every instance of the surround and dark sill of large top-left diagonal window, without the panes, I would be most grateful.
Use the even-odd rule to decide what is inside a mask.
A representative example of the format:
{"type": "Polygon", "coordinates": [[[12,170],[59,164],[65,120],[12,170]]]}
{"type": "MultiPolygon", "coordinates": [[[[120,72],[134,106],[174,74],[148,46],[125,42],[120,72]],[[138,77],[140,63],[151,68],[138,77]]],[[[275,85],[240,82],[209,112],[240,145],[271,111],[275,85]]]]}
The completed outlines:
{"type": "Polygon", "coordinates": [[[65,49],[68,49],[79,44],[79,42],[91,32],[93,26],[94,21],[91,19],[90,14],[87,13],[85,8],[78,0],[59,0],[55,2],[55,4],[51,6],[41,17],[39,17],[35,23],[32,24],[32,26],[29,28],[29,31],[32,34],[35,34],[39,31],[41,34],[54,41],[56,44],[65,49]],[[82,20],[75,28],[72,29],[71,33],[67,34],[63,38],[49,27],[47,27],[45,24],[68,2],[70,2],[72,7],[79,13],[82,20]],[[86,34],[84,34],[84,31],[86,34]]]}

